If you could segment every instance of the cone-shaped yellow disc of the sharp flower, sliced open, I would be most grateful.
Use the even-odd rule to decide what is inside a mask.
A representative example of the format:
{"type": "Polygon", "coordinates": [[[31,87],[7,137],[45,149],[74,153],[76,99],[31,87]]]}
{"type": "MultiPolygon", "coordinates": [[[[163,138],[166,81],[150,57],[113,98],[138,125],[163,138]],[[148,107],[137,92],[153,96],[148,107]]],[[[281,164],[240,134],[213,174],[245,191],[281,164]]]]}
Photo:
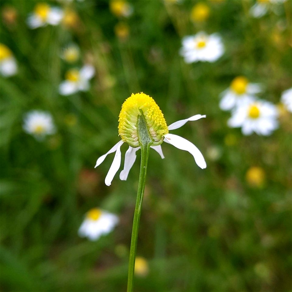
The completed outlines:
{"type": "Polygon", "coordinates": [[[163,141],[163,136],[168,134],[166,121],[154,99],[143,92],[132,93],[122,105],[119,116],[119,135],[122,141],[127,142],[132,147],[141,146],[138,118],[142,115],[145,119],[152,145],[160,145],[163,141]]]}

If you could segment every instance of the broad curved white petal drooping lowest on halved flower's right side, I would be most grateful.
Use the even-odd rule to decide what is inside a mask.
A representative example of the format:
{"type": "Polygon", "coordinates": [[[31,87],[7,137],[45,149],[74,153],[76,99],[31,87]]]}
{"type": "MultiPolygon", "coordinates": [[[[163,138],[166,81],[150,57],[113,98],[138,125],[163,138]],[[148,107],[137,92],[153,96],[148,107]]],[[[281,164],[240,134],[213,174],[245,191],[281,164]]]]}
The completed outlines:
{"type": "Polygon", "coordinates": [[[169,144],[172,144],[176,148],[188,151],[190,154],[192,154],[193,157],[195,158],[196,164],[201,169],[204,169],[207,167],[202,153],[193,143],[186,140],[185,138],[182,138],[174,134],[166,134],[164,137],[165,137],[164,141],[167,141],[169,144]]]}

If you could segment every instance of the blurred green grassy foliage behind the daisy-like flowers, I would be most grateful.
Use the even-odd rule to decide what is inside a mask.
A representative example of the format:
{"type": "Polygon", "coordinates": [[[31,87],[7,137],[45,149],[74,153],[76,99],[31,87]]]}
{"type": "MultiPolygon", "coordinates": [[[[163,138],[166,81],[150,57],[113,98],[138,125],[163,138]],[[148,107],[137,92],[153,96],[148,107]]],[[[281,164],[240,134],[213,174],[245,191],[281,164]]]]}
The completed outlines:
{"type": "Polygon", "coordinates": [[[291,290],[291,115],[269,137],[245,137],[218,106],[238,75],[262,83],[260,97],[275,104],[291,87],[291,1],[259,19],[249,15],[253,1],[201,2],[210,15],[193,23],[196,1],[130,1],[128,18],[108,1],[50,1],[70,17],[31,30],[26,19],[38,2],[1,1],[1,43],[19,67],[1,78],[2,291],[126,290],[140,154],[127,181],[116,175],[110,187],[113,155],[93,167],[119,140],[121,104],[141,91],[168,124],[207,115],[174,132],[196,144],[207,169],[165,143],[164,160],[151,152],[137,247],[149,273],[134,289],[291,290]],[[212,64],[185,64],[181,38],[200,30],[219,33],[225,53],[212,64]],[[76,66],[60,54],[72,42],[81,50],[77,66],[92,63],[96,75],[88,92],[60,96],[65,71],[76,66]],[[53,115],[54,135],[24,133],[32,109],[53,115]],[[92,207],[120,216],[96,242],[77,235],[92,207]]]}

